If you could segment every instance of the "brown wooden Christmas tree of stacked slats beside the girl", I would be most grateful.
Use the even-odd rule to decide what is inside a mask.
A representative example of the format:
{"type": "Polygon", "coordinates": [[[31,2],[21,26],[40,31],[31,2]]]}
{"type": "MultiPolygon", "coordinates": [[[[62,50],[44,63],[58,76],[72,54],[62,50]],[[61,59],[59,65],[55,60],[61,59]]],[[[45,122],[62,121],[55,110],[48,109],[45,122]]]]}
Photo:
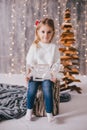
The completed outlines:
{"type": "Polygon", "coordinates": [[[80,82],[79,79],[76,79],[75,74],[79,74],[79,57],[78,51],[75,45],[75,38],[73,33],[73,27],[71,24],[71,14],[70,10],[66,9],[64,14],[64,23],[62,24],[61,29],[63,30],[60,35],[60,44],[59,48],[61,53],[61,64],[63,65],[62,73],[64,77],[62,78],[60,91],[66,89],[76,90],[78,93],[81,93],[81,88],[76,85],[69,85],[73,82],[80,82]]]}

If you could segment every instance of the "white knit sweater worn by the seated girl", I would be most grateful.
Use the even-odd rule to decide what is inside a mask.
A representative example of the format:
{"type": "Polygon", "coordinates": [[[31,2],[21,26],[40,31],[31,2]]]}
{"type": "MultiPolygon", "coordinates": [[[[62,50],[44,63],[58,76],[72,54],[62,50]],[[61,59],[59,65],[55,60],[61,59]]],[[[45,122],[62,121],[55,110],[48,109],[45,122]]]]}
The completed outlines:
{"type": "Polygon", "coordinates": [[[26,57],[27,66],[35,66],[37,64],[48,64],[53,66],[56,63],[55,72],[58,72],[60,66],[60,53],[57,45],[54,43],[38,43],[39,47],[35,44],[30,46],[26,57]]]}

